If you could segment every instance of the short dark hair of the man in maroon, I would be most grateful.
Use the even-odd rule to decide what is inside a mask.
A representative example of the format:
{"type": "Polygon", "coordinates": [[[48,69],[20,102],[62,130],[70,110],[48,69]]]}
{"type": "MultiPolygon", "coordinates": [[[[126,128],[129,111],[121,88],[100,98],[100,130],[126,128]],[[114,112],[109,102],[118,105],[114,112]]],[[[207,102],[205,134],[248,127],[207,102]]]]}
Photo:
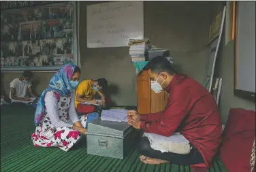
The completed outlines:
{"type": "Polygon", "coordinates": [[[150,60],[148,64],[143,68],[143,70],[151,70],[152,72],[156,72],[160,74],[161,72],[167,72],[168,74],[175,74],[176,70],[174,70],[171,62],[162,56],[157,56],[150,60]]]}

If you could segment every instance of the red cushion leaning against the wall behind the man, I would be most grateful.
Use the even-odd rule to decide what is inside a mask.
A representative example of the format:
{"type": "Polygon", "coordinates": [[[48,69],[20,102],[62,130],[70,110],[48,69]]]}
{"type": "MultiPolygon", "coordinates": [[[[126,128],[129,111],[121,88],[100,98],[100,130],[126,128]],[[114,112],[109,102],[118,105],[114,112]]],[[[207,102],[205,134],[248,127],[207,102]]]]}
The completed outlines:
{"type": "Polygon", "coordinates": [[[254,139],[255,112],[242,108],[230,109],[220,147],[220,158],[227,171],[251,171],[250,160],[254,139]]]}

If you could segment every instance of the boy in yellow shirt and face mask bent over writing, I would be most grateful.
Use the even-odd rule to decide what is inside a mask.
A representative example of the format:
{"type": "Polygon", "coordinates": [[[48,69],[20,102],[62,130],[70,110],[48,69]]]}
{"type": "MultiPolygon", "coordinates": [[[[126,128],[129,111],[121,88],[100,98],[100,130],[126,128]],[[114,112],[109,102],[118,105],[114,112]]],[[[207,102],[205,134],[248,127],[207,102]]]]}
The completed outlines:
{"type": "Polygon", "coordinates": [[[82,81],[76,89],[76,110],[82,114],[97,112],[97,106],[82,104],[82,102],[97,104],[97,101],[95,100],[95,95],[97,93],[101,97],[101,104],[99,105],[108,107],[110,105],[110,99],[106,98],[102,93],[102,89],[105,89],[107,86],[108,81],[103,78],[97,80],[88,79],[82,81]]]}

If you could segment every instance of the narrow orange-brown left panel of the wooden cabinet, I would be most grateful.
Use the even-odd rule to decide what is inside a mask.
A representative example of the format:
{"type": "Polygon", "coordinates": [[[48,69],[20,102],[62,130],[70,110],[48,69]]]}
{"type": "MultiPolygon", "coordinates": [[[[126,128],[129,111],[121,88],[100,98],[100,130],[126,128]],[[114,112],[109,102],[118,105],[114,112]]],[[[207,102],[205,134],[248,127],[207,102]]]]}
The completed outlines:
{"type": "Polygon", "coordinates": [[[150,112],[150,81],[146,71],[142,71],[142,74],[137,76],[137,99],[138,112],[148,114],[150,112]]]}

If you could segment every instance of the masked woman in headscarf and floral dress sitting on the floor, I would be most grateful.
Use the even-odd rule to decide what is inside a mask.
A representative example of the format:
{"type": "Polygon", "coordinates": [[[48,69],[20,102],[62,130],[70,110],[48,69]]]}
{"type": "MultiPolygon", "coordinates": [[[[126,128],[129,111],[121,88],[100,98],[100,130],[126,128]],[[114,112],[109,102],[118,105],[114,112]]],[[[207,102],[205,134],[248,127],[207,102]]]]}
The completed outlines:
{"type": "Polygon", "coordinates": [[[86,133],[86,116],[78,118],[74,91],[80,78],[80,68],[74,64],[63,66],[43,91],[35,111],[33,144],[69,150],[86,133]]]}

